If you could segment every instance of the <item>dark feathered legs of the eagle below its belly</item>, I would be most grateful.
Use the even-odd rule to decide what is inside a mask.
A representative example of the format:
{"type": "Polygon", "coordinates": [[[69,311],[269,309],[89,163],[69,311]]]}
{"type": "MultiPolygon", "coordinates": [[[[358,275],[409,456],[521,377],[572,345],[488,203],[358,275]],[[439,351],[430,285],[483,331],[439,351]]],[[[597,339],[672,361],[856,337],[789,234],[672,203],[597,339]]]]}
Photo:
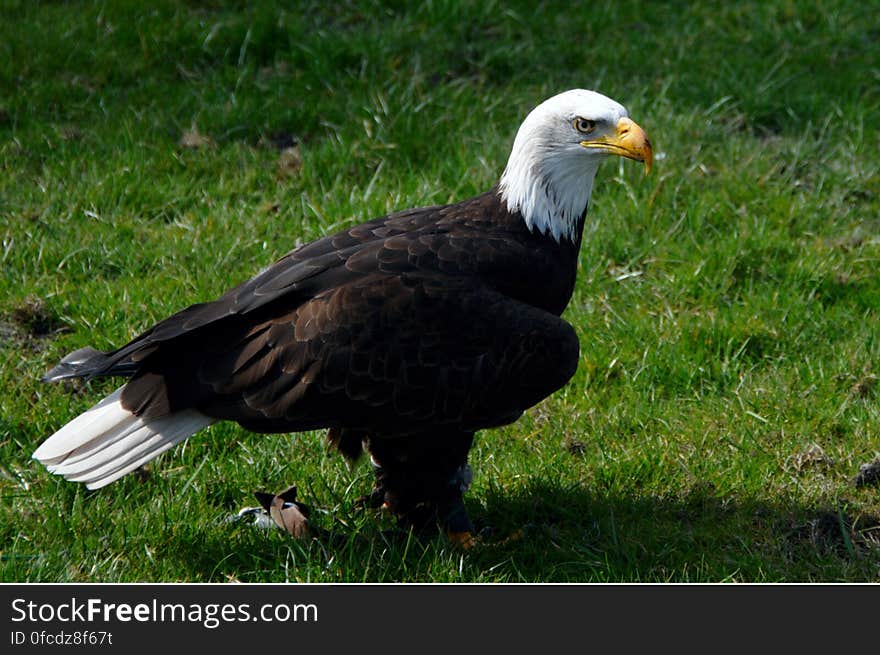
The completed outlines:
{"type": "Polygon", "coordinates": [[[463,495],[473,477],[467,463],[473,434],[411,439],[368,441],[376,477],[369,504],[387,507],[403,527],[440,527],[454,544],[470,547],[474,526],[463,495]]]}

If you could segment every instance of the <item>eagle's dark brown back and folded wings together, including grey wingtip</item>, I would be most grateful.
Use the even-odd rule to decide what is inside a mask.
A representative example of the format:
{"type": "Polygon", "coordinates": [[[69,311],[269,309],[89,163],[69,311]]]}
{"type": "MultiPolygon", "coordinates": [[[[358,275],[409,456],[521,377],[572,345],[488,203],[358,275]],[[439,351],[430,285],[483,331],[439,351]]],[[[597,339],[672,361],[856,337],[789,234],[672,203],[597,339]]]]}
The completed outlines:
{"type": "Polygon", "coordinates": [[[47,378],[127,375],[138,415],[194,407],[261,431],[497,425],[574,370],[577,339],[553,315],[574,279],[562,248],[494,192],[403,212],[303,246],[117,351],[72,353],[47,378]]]}

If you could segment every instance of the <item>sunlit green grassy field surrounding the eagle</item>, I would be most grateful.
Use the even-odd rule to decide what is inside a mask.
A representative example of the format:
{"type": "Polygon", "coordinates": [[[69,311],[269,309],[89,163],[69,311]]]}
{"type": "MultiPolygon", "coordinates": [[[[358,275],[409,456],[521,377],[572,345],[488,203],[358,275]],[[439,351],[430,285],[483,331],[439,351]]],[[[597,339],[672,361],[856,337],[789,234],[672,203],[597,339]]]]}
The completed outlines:
{"type": "Polygon", "coordinates": [[[880,458],[860,3],[279,4],[0,0],[0,580],[880,581],[880,486],[855,483],[880,458]],[[67,352],[488,188],[572,87],[627,105],[658,159],[599,172],[575,378],[478,435],[469,511],[524,539],[394,530],[319,433],[218,425],[98,492],[30,460],[115,386],[41,384],[67,352]],[[225,521],[293,482],[333,539],[225,521]]]}

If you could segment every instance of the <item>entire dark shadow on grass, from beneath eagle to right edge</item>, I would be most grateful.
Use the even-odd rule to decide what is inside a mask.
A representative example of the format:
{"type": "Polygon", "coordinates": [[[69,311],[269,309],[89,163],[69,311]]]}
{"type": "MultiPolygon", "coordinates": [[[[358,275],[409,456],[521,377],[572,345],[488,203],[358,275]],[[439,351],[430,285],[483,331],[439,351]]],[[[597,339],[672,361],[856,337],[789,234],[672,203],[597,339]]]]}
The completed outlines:
{"type": "Polygon", "coordinates": [[[325,517],[331,538],[192,528],[166,534],[163,556],[213,581],[871,581],[880,565],[877,517],[701,489],[669,498],[545,483],[489,491],[471,512],[493,529],[467,553],[348,509],[325,517]]]}

